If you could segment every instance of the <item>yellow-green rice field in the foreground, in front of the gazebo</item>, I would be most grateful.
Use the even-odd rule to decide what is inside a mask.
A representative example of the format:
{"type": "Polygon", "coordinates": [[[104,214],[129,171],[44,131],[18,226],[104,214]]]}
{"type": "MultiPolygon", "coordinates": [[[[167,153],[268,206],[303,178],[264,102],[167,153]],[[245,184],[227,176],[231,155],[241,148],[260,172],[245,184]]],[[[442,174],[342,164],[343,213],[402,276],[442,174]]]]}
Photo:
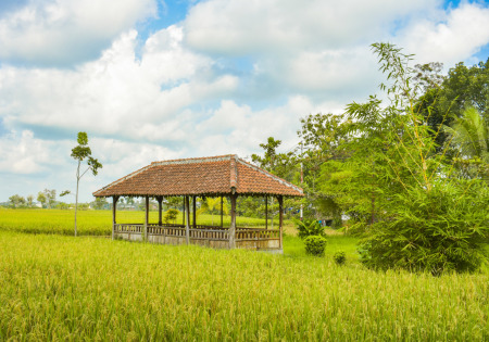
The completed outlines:
{"type": "Polygon", "coordinates": [[[489,339],[488,274],[10,231],[0,251],[0,341],[489,339]]]}

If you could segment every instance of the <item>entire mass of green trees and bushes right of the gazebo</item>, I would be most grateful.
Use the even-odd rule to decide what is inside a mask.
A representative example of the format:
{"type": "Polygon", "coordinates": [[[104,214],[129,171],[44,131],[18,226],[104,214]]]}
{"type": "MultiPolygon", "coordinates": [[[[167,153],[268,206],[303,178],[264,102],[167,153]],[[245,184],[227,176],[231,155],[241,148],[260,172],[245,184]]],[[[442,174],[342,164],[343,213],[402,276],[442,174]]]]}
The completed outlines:
{"type": "Polygon", "coordinates": [[[442,77],[392,45],[373,50],[385,96],[301,119],[304,214],[337,228],[348,214],[368,267],[473,271],[489,235],[489,60],[442,77]]]}

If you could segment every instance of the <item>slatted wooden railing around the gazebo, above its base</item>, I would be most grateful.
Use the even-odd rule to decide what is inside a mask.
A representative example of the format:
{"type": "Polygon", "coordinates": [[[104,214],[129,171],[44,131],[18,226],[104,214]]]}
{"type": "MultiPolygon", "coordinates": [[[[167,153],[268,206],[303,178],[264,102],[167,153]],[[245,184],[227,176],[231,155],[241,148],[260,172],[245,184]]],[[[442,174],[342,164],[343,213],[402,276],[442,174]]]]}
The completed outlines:
{"type": "MultiPolygon", "coordinates": [[[[140,224],[116,224],[114,225],[115,233],[142,233],[145,225],[140,224]]],[[[166,237],[185,237],[185,225],[172,224],[149,224],[147,228],[148,235],[166,236],[166,237]]],[[[263,241],[263,240],[278,240],[280,231],[278,229],[265,228],[236,228],[236,241],[263,241]]],[[[190,226],[189,238],[197,240],[229,240],[229,228],[220,226],[190,226]]]]}

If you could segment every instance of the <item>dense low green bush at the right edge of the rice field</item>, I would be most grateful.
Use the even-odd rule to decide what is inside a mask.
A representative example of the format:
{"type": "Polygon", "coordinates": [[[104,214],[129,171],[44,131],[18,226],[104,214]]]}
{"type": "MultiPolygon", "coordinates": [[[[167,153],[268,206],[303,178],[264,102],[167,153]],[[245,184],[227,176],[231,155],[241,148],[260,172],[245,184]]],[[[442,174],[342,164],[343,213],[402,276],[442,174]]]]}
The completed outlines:
{"type": "Polygon", "coordinates": [[[484,182],[466,180],[392,198],[391,205],[402,210],[372,226],[360,243],[361,261],[375,269],[474,271],[486,258],[488,199],[484,182]]]}

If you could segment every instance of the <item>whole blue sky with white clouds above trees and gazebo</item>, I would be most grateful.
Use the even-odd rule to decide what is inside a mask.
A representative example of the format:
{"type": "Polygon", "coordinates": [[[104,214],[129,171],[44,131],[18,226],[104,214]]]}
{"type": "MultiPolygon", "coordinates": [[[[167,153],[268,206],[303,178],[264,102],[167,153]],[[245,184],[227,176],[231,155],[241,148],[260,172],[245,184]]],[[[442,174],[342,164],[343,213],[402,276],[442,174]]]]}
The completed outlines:
{"type": "Polygon", "coordinates": [[[301,117],[378,93],[380,41],[446,72],[486,61],[489,3],[0,0],[0,202],[74,192],[78,131],[103,164],[83,202],[153,161],[289,151],[301,117]]]}

